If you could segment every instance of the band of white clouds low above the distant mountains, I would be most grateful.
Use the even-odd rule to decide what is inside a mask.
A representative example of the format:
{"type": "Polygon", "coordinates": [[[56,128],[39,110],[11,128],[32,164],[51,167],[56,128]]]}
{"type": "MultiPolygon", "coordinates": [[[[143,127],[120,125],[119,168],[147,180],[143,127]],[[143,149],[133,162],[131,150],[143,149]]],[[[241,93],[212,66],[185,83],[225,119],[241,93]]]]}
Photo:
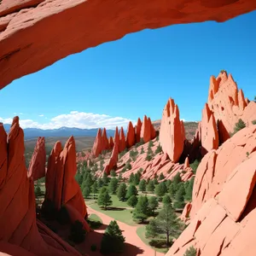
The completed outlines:
{"type": "MultiPolygon", "coordinates": [[[[11,124],[12,118],[3,119],[0,117],[0,122],[3,124],[11,124]]],[[[39,129],[57,129],[62,126],[76,127],[81,129],[91,129],[98,127],[106,127],[107,129],[114,129],[116,126],[123,126],[125,129],[131,121],[134,125],[135,120],[125,119],[122,117],[112,117],[107,114],[99,113],[84,113],[72,111],[70,113],[63,113],[50,119],[44,124],[38,123],[32,119],[20,119],[20,126],[22,128],[39,128],[39,129]]]]}

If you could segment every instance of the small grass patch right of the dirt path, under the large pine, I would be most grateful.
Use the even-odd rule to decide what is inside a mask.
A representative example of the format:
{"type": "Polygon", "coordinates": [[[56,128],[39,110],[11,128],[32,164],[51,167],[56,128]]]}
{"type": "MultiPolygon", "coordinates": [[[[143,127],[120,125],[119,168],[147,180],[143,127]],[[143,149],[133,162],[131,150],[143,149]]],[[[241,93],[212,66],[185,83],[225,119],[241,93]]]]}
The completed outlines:
{"type": "Polygon", "coordinates": [[[147,244],[149,247],[152,247],[155,251],[160,252],[160,253],[167,253],[169,250],[169,247],[166,247],[165,242],[166,239],[164,236],[160,236],[154,239],[156,246],[151,246],[150,241],[151,239],[146,238],[145,233],[146,233],[146,225],[142,225],[137,228],[137,236],[140,237],[140,239],[147,244]]]}

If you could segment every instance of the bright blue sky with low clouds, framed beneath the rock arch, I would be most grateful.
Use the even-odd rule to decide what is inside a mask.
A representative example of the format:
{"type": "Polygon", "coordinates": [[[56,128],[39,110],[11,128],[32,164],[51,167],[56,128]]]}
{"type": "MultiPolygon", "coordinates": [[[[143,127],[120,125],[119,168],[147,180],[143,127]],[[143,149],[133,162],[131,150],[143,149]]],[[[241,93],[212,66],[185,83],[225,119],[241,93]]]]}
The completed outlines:
{"type": "Polygon", "coordinates": [[[110,128],[144,114],[160,119],[170,96],[182,119],[199,120],[209,78],[221,69],[249,99],[256,95],[255,24],[252,12],[224,23],[147,29],[70,55],[1,90],[0,121],[22,113],[24,128],[110,128]]]}

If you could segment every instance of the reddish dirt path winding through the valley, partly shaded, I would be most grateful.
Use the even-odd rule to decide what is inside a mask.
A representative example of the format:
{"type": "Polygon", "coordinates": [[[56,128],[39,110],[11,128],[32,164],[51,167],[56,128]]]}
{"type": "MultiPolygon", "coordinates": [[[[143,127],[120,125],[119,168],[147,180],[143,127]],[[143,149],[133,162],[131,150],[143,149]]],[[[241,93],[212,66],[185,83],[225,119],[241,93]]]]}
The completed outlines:
{"type": "MultiPolygon", "coordinates": [[[[90,241],[93,241],[97,248],[100,248],[102,234],[106,230],[108,224],[110,223],[113,218],[109,217],[108,215],[97,212],[96,210],[87,206],[89,214],[95,213],[97,216],[102,218],[102,229],[95,230],[90,235],[90,241]]],[[[120,213],[122,214],[122,213],[120,213]]],[[[122,256],[136,256],[136,255],[145,255],[145,256],[163,256],[164,253],[154,252],[154,249],[148,247],[140,238],[137,236],[137,226],[130,226],[123,222],[117,221],[119,224],[120,230],[123,231],[123,236],[125,236],[125,252],[122,253],[122,256]]],[[[102,255],[99,252],[90,252],[90,255],[98,256],[102,255]]]]}

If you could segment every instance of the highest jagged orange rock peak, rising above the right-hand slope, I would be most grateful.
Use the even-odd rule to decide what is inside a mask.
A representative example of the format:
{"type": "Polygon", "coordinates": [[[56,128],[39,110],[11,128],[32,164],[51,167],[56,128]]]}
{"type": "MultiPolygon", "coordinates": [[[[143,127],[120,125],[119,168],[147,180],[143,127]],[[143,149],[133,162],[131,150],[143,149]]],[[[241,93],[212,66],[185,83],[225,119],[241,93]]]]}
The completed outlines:
{"type": "Polygon", "coordinates": [[[220,73],[216,79],[211,77],[208,106],[218,122],[221,143],[230,137],[230,132],[234,131],[238,119],[242,119],[247,126],[252,125],[252,121],[256,119],[256,103],[248,103],[242,90],[238,90],[231,74],[227,76],[225,72],[220,73]]]}

